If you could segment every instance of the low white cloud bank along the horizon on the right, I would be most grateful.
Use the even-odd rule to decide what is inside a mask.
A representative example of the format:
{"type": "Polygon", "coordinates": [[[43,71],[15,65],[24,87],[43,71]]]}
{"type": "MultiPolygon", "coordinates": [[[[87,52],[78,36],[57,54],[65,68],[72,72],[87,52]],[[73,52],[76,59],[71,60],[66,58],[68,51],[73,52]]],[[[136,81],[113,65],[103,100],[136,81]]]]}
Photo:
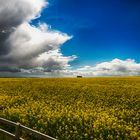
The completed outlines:
{"type": "Polygon", "coordinates": [[[76,70],[65,71],[71,75],[82,76],[137,76],[140,75],[140,63],[133,59],[113,59],[95,66],[84,66],[76,70]]]}

